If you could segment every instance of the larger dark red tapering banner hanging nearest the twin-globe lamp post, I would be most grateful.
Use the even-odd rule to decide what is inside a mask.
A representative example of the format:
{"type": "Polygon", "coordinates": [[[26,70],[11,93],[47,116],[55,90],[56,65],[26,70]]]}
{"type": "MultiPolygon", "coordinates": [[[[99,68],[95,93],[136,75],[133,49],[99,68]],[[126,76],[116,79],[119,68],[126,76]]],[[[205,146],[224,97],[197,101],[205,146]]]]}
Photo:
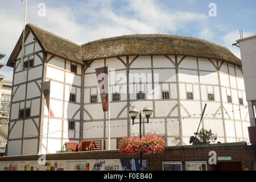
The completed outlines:
{"type": "Polygon", "coordinates": [[[96,76],[98,80],[98,88],[101,94],[101,103],[103,111],[108,111],[109,102],[109,75],[108,67],[96,68],[96,76]]]}

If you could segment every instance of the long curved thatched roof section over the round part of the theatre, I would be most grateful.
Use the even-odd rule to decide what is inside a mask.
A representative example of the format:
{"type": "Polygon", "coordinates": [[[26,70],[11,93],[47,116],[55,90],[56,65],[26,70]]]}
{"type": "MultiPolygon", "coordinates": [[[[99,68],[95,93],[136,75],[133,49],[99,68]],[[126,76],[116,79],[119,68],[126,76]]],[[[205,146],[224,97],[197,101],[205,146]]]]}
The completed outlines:
{"type": "Polygon", "coordinates": [[[82,60],[126,55],[188,55],[241,65],[228,48],[206,40],[162,34],[123,35],[82,45],[82,60]]]}

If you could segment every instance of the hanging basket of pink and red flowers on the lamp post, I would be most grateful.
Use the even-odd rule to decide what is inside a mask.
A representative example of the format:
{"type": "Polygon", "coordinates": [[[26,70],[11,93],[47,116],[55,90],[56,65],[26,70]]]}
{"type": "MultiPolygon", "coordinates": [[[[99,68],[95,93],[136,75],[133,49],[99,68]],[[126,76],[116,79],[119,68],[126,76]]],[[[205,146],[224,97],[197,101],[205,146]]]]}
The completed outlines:
{"type": "Polygon", "coordinates": [[[148,135],[146,137],[124,137],[119,142],[121,154],[163,154],[164,139],[157,135],[148,135]]]}

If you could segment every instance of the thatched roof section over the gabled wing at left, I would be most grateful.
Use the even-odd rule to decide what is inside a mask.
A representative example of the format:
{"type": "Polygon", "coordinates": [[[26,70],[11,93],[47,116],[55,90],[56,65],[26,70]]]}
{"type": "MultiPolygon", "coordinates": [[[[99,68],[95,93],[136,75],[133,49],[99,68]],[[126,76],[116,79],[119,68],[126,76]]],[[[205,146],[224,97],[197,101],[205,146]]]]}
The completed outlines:
{"type": "MultiPolygon", "coordinates": [[[[77,63],[82,64],[82,61],[81,61],[82,47],[79,46],[78,44],[75,44],[67,39],[61,38],[60,36],[52,34],[51,32],[43,30],[42,28],[39,28],[34,24],[30,24],[30,23],[28,23],[25,28],[25,39],[27,38],[28,33],[30,31],[35,36],[37,42],[40,44],[44,52],[50,53],[51,55],[62,57],[63,59],[75,61],[77,63]]],[[[6,65],[9,67],[14,66],[14,61],[18,56],[18,53],[21,51],[22,36],[23,34],[20,35],[20,38],[16,43],[16,46],[13,52],[11,53],[9,60],[7,61],[6,65]]]]}

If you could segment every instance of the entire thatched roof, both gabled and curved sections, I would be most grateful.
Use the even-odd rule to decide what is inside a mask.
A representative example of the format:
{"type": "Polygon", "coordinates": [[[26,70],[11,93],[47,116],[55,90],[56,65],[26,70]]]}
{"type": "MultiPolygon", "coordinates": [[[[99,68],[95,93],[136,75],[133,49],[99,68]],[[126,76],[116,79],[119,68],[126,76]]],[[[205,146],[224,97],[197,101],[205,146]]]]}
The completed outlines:
{"type": "MultiPolygon", "coordinates": [[[[234,56],[229,49],[205,40],[184,36],[124,35],[100,39],[80,46],[30,23],[26,25],[25,38],[30,31],[44,52],[81,64],[82,61],[127,55],[187,55],[224,60],[241,65],[241,60],[234,56]]],[[[14,66],[21,48],[22,34],[11,53],[7,66],[14,66]]]]}

